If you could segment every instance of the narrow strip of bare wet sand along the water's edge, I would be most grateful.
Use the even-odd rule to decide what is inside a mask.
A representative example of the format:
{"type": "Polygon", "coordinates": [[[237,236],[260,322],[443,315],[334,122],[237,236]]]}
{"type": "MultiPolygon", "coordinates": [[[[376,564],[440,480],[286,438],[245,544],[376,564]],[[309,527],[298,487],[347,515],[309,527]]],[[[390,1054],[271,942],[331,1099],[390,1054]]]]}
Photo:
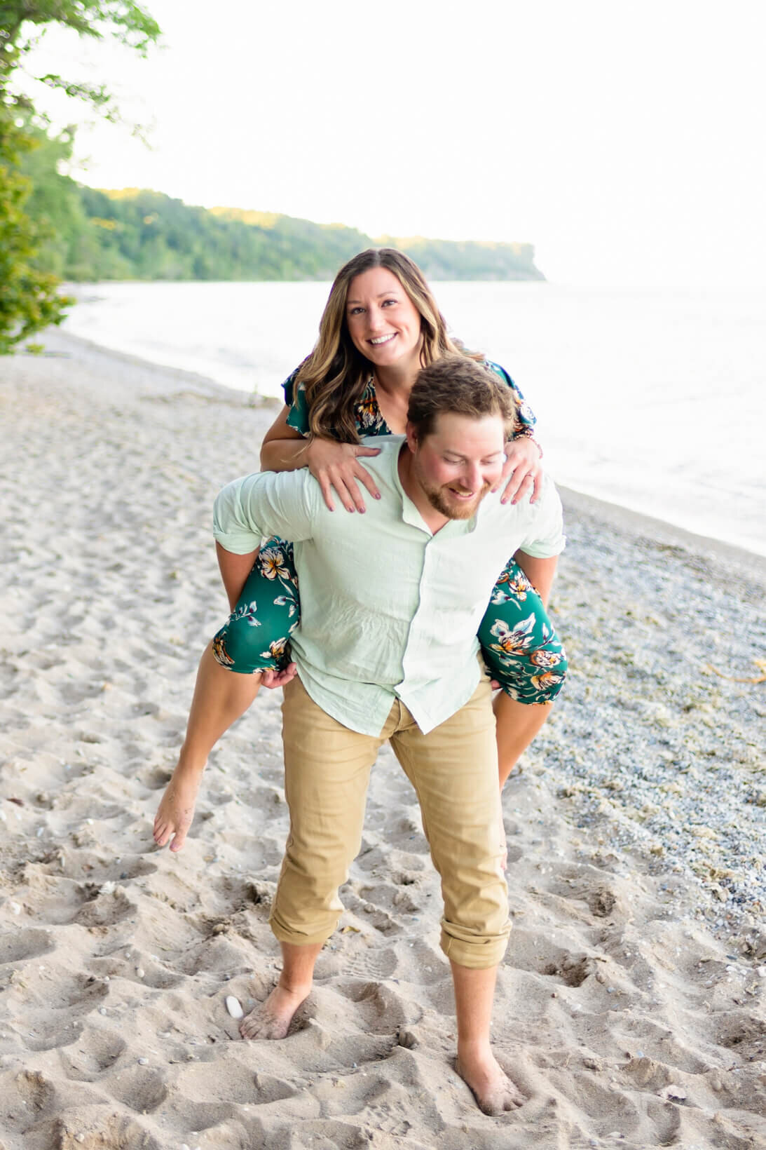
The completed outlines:
{"type": "MultiPolygon", "coordinates": [[[[93,354],[102,354],[107,360],[112,359],[117,362],[133,365],[138,368],[162,373],[177,378],[178,382],[185,381],[192,389],[199,390],[200,393],[219,396],[222,400],[228,399],[229,401],[233,401],[236,399],[242,401],[243,406],[246,407],[274,408],[275,412],[281,406],[278,399],[273,399],[269,396],[262,396],[255,391],[246,392],[240,391],[237,388],[229,388],[225,384],[217,383],[209,376],[198,375],[197,373],[187,371],[184,368],[175,368],[156,363],[153,360],[144,359],[140,355],[117,351],[107,347],[105,344],[97,344],[93,340],[85,339],[83,336],[76,336],[69,331],[48,328],[44,334],[44,337],[46,343],[52,344],[54,347],[59,344],[54,354],[66,354],[67,344],[70,343],[75,347],[87,350],[93,354]]],[[[18,354],[21,356],[25,355],[25,353],[18,354]]],[[[26,358],[33,356],[28,355],[26,358]]],[[[763,580],[766,585],[766,555],[761,555],[759,552],[749,551],[745,547],[736,546],[735,544],[727,543],[723,539],[717,539],[713,536],[705,536],[695,531],[689,531],[669,520],[661,520],[654,518],[653,515],[646,515],[643,512],[625,507],[622,504],[614,504],[607,499],[600,499],[597,496],[585,493],[584,491],[577,491],[576,489],[568,488],[561,483],[557,483],[557,488],[562,496],[562,501],[566,500],[572,504],[572,506],[582,508],[583,511],[591,508],[593,514],[599,515],[605,522],[625,528],[630,527],[636,534],[641,531],[662,542],[677,542],[680,545],[687,546],[690,551],[696,553],[711,554],[721,562],[731,562],[736,567],[746,570],[753,578],[763,580]]]]}

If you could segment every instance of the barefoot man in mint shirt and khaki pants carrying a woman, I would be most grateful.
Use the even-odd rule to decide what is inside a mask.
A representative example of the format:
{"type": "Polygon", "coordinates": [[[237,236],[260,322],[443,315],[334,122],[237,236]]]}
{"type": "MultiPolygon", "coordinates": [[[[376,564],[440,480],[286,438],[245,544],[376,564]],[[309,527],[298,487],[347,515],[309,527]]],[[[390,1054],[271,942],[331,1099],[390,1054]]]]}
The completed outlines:
{"type": "MultiPolygon", "coordinates": [[[[381,453],[366,465],[381,498],[363,516],[330,512],[306,470],[246,476],[215,505],[227,551],[252,552],[265,535],[294,542],[301,600],[291,636],[299,677],[283,703],[290,835],[270,918],[283,969],[242,1034],[284,1037],[309,994],[359,851],[369,770],[390,739],[442,876],[457,1067],[491,1114],[523,1099],[489,1041],[510,923],[491,689],[476,630],[510,554],[522,550],[533,580],[550,585],[564,546],[550,480],[534,505],[504,506],[490,493],[512,402],[478,363],[443,358],[418,377],[406,439],[375,440],[381,453]]],[[[155,830],[161,845],[185,836],[198,783],[174,775],[155,830]]]]}

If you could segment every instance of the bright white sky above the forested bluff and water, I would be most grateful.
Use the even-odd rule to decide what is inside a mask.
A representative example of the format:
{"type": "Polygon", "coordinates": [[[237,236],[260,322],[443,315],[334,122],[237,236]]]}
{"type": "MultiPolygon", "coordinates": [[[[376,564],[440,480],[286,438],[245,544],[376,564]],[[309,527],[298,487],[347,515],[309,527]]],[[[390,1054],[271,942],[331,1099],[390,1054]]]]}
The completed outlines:
{"type": "Polygon", "coordinates": [[[766,284],[757,0],[145,3],[147,61],[55,30],[37,49],[152,125],[151,150],[82,130],[78,179],[528,241],[559,283],[766,284]]]}

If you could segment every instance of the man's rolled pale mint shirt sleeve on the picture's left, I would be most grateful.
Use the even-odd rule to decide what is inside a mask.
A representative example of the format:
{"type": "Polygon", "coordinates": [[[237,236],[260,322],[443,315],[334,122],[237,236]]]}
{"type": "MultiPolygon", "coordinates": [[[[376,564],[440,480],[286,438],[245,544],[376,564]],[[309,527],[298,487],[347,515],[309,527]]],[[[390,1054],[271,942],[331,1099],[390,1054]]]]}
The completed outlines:
{"type": "Polygon", "coordinates": [[[298,543],[314,529],[319,485],[306,470],[256,471],[228,483],[213,508],[213,534],[225,551],[244,555],[270,535],[298,543]]]}

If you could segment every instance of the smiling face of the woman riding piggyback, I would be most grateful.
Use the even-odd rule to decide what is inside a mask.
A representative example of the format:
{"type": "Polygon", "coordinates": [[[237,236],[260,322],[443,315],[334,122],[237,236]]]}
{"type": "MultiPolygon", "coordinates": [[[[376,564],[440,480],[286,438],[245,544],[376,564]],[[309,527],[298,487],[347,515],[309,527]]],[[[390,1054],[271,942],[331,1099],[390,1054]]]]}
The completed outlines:
{"type": "Polygon", "coordinates": [[[375,367],[420,369],[420,312],[388,268],[370,268],[348,284],[351,342],[375,367]]]}

